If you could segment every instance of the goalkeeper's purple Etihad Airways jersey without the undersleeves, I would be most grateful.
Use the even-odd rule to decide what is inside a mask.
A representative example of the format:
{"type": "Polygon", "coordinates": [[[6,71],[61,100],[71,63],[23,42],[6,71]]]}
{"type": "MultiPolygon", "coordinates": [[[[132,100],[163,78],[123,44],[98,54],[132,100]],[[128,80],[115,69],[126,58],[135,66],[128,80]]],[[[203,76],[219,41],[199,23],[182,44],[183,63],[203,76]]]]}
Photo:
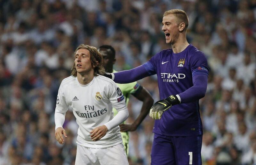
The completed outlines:
{"type": "MultiPolygon", "coordinates": [[[[143,64],[150,75],[157,74],[160,99],[184,92],[193,86],[192,77],[208,76],[207,60],[203,52],[189,45],[180,53],[163,50],[143,64]]],[[[155,120],[153,132],[166,136],[195,136],[203,134],[199,100],[181,103],[165,111],[155,120]]]]}

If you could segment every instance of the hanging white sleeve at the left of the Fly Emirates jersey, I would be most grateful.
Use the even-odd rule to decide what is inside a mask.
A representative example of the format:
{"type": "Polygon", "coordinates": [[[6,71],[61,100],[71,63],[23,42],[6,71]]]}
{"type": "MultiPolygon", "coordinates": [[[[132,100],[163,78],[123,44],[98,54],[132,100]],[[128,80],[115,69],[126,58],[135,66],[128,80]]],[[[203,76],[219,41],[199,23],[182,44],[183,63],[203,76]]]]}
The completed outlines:
{"type": "Polygon", "coordinates": [[[55,130],[58,127],[63,126],[63,123],[65,121],[65,115],[66,115],[67,111],[68,111],[68,105],[67,105],[65,94],[64,94],[63,84],[61,83],[59,91],[58,91],[55,114],[54,114],[55,130]]]}

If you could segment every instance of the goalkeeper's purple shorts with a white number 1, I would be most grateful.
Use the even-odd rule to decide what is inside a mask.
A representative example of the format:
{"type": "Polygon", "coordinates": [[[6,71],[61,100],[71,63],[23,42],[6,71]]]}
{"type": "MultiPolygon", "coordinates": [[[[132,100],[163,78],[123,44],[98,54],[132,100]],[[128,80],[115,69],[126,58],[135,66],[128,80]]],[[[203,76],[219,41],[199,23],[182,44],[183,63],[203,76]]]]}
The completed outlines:
{"type": "Polygon", "coordinates": [[[154,135],[151,165],[201,165],[202,137],[154,135]]]}

